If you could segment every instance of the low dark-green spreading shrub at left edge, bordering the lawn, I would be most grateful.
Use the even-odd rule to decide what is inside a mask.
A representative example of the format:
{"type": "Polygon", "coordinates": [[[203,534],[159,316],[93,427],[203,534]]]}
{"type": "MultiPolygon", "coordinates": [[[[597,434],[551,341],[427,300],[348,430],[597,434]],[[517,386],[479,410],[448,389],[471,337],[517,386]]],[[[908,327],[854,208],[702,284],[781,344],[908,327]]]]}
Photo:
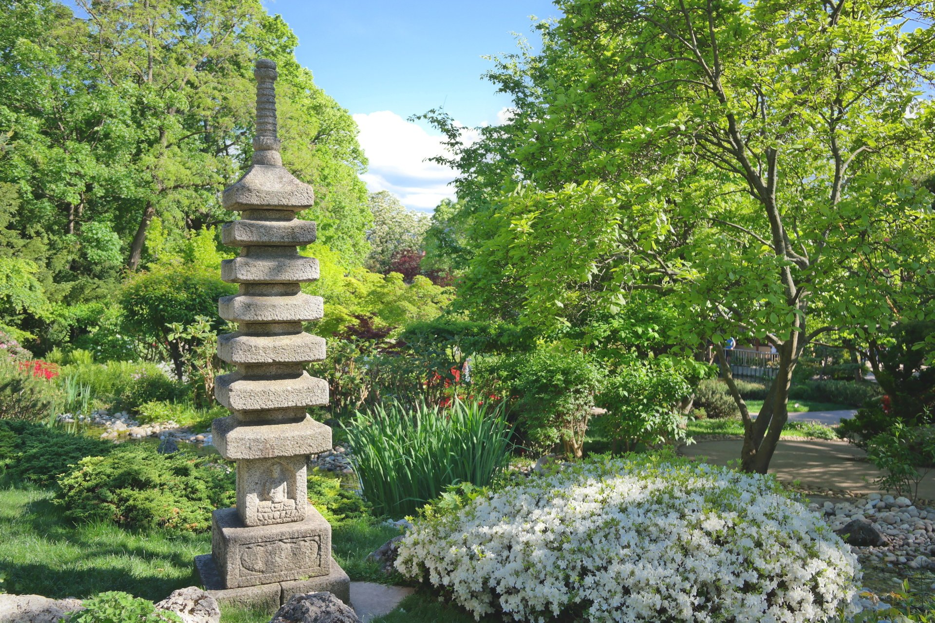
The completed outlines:
{"type": "Polygon", "coordinates": [[[114,449],[110,442],[65,432],[43,424],[0,421],[0,466],[7,478],[40,487],[56,479],[84,457],[103,457],[114,449]]]}

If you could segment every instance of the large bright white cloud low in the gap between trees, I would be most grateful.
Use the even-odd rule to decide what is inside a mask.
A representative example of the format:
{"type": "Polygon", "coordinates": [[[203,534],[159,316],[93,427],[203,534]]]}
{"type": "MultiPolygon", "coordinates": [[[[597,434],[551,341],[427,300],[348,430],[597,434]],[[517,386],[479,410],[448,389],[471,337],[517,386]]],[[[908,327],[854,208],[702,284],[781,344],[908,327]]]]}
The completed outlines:
{"type": "Polygon", "coordinates": [[[441,135],[389,110],[356,114],[360,144],[369,170],[361,176],[370,191],[390,191],[410,209],[431,212],[439,201],[454,198],[448,183],[455,173],[447,166],[424,162],[444,151],[441,135]]]}

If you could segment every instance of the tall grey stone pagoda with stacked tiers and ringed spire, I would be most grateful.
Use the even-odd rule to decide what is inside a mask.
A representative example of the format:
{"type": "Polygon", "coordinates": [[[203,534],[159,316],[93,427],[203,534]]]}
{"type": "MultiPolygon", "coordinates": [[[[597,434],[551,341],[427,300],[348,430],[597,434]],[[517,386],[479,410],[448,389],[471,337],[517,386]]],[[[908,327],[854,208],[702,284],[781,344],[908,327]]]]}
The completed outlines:
{"type": "Polygon", "coordinates": [[[303,369],[324,359],[324,339],[302,323],[322,318],[322,299],[299,284],[318,278],[318,261],[296,246],[315,240],[315,223],[295,216],[314,200],[311,187],[283,166],[276,128],[276,64],[260,60],[252,166],[223,191],[241,218],[223,226],[221,317],[237,333],[218,338],[218,356],[237,366],[220,376],[218,402],[233,415],[214,420],[214,445],[237,461],[237,507],[214,511],[211,554],[195,558],[205,588],[222,602],[275,610],[295,594],[327,590],[350,603],[348,576],[331,559],[331,526],[306,492],[309,454],[331,449],[331,429],[306,408],[328,403],[328,384],[303,369]]]}

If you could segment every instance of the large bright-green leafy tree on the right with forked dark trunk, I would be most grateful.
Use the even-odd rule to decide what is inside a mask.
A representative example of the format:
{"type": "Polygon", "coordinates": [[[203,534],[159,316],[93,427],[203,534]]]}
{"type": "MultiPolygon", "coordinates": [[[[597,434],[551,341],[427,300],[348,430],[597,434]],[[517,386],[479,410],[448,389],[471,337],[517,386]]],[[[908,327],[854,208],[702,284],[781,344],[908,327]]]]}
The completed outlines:
{"type": "Polygon", "coordinates": [[[465,146],[429,115],[463,209],[482,215],[460,293],[540,326],[617,313],[637,292],[665,300],[671,343],[721,351],[743,466],[765,472],[804,347],[935,315],[932,7],[556,4],[542,51],[490,75],[514,97],[511,122],[465,146]],[[727,337],[780,353],[755,420],[727,337]]]}

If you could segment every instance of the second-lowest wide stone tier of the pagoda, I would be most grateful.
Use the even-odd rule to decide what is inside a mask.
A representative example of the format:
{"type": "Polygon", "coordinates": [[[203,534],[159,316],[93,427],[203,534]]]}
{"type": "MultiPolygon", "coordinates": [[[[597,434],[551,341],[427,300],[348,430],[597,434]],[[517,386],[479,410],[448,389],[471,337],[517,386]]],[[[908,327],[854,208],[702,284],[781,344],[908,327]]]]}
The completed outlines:
{"type": "Polygon", "coordinates": [[[328,382],[307,372],[286,378],[253,378],[235,372],[218,376],[214,397],[231,411],[323,406],[328,404],[328,382]]]}

